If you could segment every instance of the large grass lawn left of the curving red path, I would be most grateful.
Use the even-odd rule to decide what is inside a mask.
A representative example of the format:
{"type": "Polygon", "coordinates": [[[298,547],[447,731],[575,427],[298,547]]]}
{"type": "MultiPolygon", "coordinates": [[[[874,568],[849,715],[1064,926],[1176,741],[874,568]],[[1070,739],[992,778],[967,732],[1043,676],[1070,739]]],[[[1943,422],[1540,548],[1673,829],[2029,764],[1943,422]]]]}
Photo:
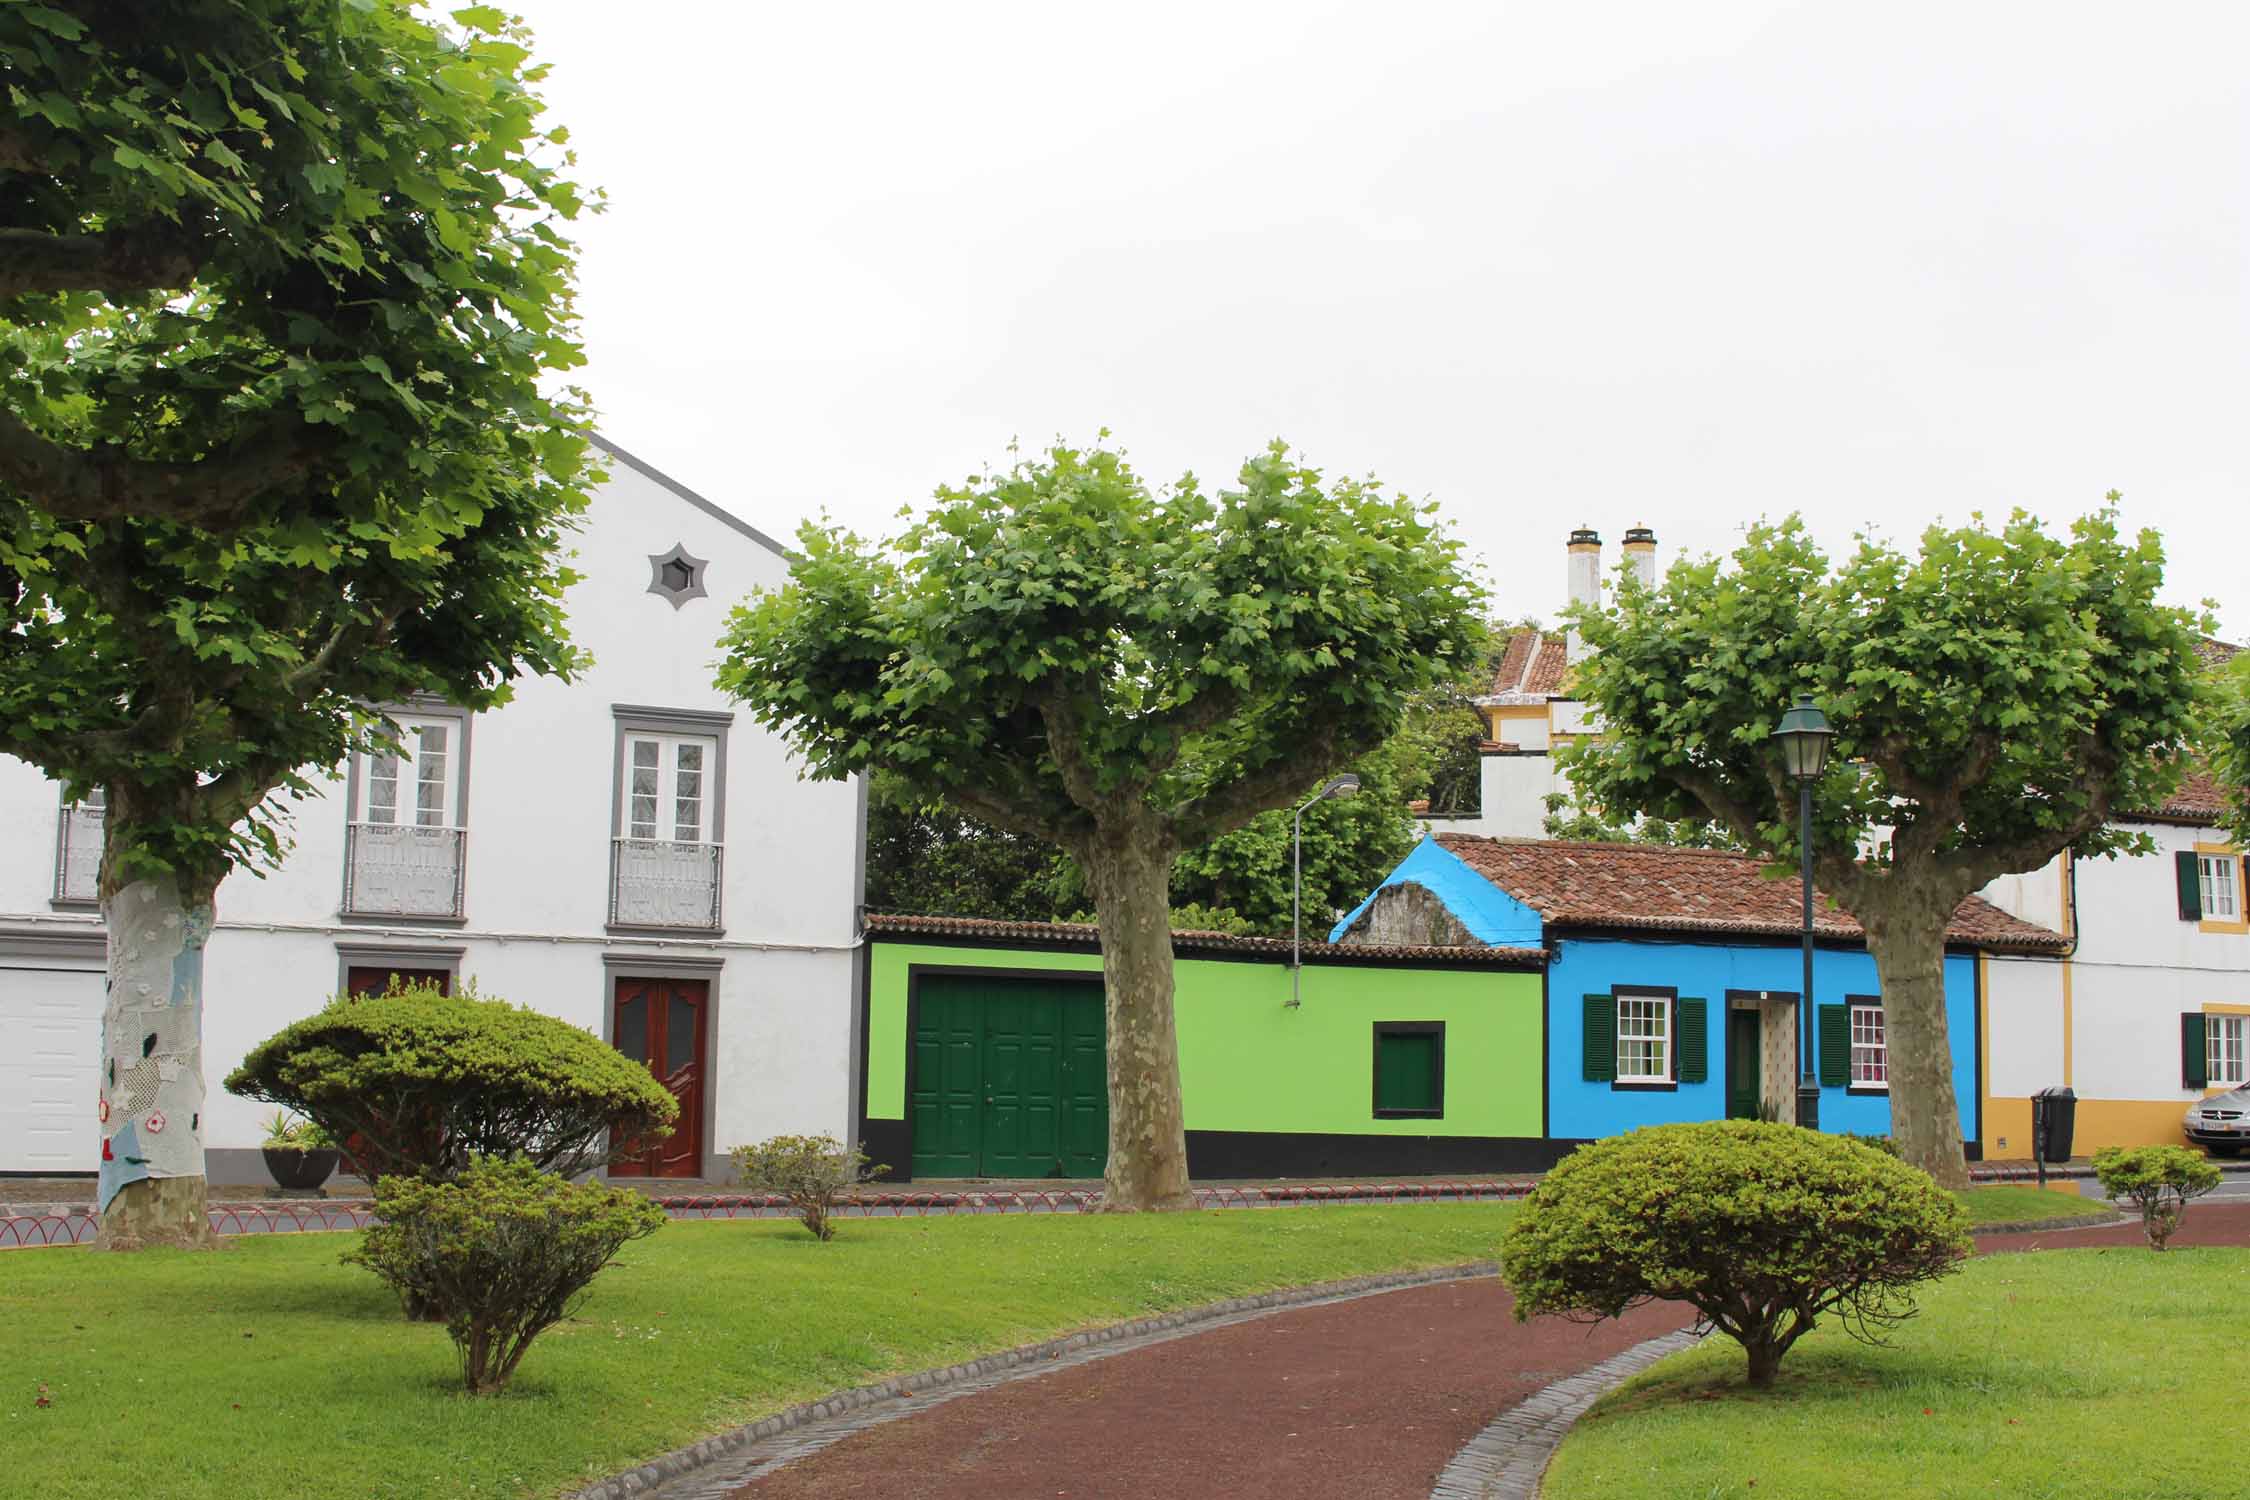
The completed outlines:
{"type": "Polygon", "coordinates": [[[1510,1205],[673,1223],[511,1390],[459,1390],[358,1235],[0,1253],[0,1473],[25,1496],[547,1496],[758,1415],[1055,1334],[1487,1259],[1510,1205]],[[50,1406],[38,1408],[45,1385],[50,1406]]]}

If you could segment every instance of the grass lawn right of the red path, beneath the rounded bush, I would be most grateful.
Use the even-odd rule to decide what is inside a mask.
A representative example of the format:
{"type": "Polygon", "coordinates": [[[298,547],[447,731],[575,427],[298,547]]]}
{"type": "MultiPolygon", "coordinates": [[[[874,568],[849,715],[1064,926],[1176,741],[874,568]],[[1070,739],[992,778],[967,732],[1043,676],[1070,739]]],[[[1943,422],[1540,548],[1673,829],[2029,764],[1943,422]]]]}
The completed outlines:
{"type": "Polygon", "coordinates": [[[1768,1394],[1717,1336],[1588,1412],[1546,1500],[2236,1500],[2250,1250],[1971,1262],[1870,1349],[1827,1325],[1768,1394]]]}

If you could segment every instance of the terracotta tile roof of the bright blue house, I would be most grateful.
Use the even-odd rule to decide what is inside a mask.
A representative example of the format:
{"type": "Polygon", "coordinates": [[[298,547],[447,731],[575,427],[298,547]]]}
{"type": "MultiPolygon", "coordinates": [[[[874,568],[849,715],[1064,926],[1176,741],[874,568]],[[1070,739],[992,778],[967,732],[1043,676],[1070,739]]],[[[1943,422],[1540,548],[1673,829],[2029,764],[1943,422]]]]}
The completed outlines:
{"type": "MultiPolygon", "coordinates": [[[[1438,834],[1494,886],[1559,927],[1631,927],[1793,938],[1802,924],[1798,882],[1764,879],[1762,864],[1726,850],[1559,839],[1438,834]]],[[[1814,933],[1861,938],[1861,927],[1816,893],[1814,933]]],[[[2063,936],[1971,895],[1946,929],[1951,942],[2007,951],[2056,951],[2063,936]]]]}

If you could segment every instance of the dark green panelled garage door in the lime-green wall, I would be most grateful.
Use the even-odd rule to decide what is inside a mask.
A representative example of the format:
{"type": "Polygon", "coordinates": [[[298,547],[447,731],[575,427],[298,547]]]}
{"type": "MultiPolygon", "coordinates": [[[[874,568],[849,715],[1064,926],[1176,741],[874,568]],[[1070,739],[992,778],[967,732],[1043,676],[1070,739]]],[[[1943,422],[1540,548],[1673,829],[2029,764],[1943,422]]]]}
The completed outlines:
{"type": "Polygon", "coordinates": [[[914,1176],[1100,1176],[1102,987],[927,976],[914,992],[914,1176]]]}

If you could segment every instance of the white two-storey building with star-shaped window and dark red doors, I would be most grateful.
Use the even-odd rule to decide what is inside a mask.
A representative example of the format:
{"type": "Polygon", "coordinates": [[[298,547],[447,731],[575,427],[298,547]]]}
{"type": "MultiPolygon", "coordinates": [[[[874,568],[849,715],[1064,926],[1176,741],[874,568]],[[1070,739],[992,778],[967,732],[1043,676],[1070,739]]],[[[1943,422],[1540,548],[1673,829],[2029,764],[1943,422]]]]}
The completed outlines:
{"type": "MultiPolygon", "coordinates": [[[[682,1095],[619,1174],[713,1176],[727,1147],[848,1136],[864,798],[799,780],[713,688],[727,609],[783,549],[601,443],[576,535],[574,684],[468,715],[398,704],[407,756],[295,807],[295,850],[218,888],[205,967],[214,1183],[263,1181],[261,1106],[218,1079],[284,1023],[392,974],[475,981],[585,1025],[682,1095]]],[[[90,1174],[104,985],[99,807],[0,756],[0,1176],[90,1174]]]]}

